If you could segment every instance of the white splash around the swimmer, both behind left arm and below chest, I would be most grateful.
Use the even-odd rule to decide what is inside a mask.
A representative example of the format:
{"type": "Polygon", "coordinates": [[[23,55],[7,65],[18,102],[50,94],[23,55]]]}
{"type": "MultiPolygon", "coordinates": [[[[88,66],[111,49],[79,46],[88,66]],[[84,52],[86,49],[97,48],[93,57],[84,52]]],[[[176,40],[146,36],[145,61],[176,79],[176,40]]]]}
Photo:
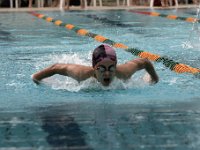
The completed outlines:
{"type": "MultiPolygon", "coordinates": [[[[50,55],[48,58],[42,58],[43,60],[49,61],[40,61],[44,62],[43,64],[36,65],[38,70],[45,68],[54,63],[71,63],[71,64],[82,64],[86,66],[91,66],[91,53],[85,55],[78,55],[77,53],[73,54],[61,54],[61,55],[50,55]]],[[[115,89],[132,89],[132,88],[141,88],[147,85],[146,81],[142,78],[143,75],[137,74],[128,81],[119,80],[117,78],[111,83],[110,86],[102,86],[95,78],[89,78],[82,82],[77,82],[76,80],[60,75],[54,75],[50,78],[46,78],[42,83],[50,86],[55,90],[66,90],[70,92],[79,92],[79,91],[101,91],[101,90],[115,90],[115,89]]]]}

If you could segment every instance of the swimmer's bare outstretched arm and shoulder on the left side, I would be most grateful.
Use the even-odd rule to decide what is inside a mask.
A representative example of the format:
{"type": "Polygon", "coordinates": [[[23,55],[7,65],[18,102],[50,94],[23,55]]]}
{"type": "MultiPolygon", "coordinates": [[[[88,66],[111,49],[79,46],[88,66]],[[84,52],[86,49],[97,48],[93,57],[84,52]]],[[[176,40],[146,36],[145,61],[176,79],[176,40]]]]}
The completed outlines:
{"type": "Polygon", "coordinates": [[[39,83],[44,78],[55,74],[72,77],[78,82],[86,80],[93,76],[93,68],[77,64],[54,64],[32,75],[35,83],[39,83]]]}

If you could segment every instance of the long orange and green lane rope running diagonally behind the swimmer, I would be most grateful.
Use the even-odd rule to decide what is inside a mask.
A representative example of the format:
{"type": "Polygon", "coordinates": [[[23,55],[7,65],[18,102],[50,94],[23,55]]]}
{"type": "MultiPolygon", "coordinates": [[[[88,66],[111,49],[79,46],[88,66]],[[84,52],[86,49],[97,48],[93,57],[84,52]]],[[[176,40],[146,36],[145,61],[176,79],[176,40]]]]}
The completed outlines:
{"type": "Polygon", "coordinates": [[[65,27],[68,30],[72,30],[80,36],[91,37],[98,42],[109,44],[109,45],[111,45],[115,48],[124,49],[125,51],[130,52],[133,55],[139,56],[141,58],[147,58],[147,59],[149,59],[151,61],[155,61],[155,62],[162,62],[164,66],[166,66],[167,68],[169,68],[170,70],[172,70],[176,73],[191,73],[191,74],[194,74],[196,77],[200,76],[200,69],[199,68],[193,68],[189,65],[176,62],[176,61],[174,61],[174,60],[172,60],[172,59],[170,59],[166,56],[162,57],[158,54],[146,52],[146,51],[143,51],[143,50],[140,50],[140,49],[137,49],[137,48],[129,48],[128,46],[126,46],[122,43],[114,42],[114,41],[112,41],[112,40],[110,40],[110,39],[108,39],[108,38],[106,38],[102,35],[98,35],[98,34],[89,32],[88,30],[83,29],[83,28],[79,28],[79,27],[77,27],[73,24],[63,23],[61,20],[55,20],[55,19],[48,17],[48,16],[45,16],[43,14],[39,14],[39,13],[35,13],[35,12],[31,12],[31,14],[33,16],[37,17],[37,18],[44,19],[47,22],[52,22],[57,26],[65,27]]]}

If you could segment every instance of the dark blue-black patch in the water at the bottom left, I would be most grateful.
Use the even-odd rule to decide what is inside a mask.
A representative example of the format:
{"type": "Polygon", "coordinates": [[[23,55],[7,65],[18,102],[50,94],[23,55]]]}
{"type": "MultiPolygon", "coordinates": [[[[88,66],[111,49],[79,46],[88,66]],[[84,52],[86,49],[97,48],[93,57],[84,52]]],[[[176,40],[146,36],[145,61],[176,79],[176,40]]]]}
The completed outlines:
{"type": "Polygon", "coordinates": [[[68,115],[54,112],[51,108],[41,114],[42,129],[48,133],[46,141],[55,148],[68,149],[84,149],[92,150],[89,148],[85,141],[85,132],[80,129],[79,124],[75,119],[68,115]]]}

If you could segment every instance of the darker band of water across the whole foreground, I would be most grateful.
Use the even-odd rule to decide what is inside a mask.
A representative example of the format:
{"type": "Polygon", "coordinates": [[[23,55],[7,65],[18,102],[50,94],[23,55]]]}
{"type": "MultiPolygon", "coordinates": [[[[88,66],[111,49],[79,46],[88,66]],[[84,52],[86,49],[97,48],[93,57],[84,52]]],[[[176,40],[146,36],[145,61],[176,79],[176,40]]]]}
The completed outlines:
{"type": "Polygon", "coordinates": [[[0,148],[198,149],[199,103],[74,103],[1,112],[0,148]],[[15,117],[13,117],[15,116],[15,117]]]}

